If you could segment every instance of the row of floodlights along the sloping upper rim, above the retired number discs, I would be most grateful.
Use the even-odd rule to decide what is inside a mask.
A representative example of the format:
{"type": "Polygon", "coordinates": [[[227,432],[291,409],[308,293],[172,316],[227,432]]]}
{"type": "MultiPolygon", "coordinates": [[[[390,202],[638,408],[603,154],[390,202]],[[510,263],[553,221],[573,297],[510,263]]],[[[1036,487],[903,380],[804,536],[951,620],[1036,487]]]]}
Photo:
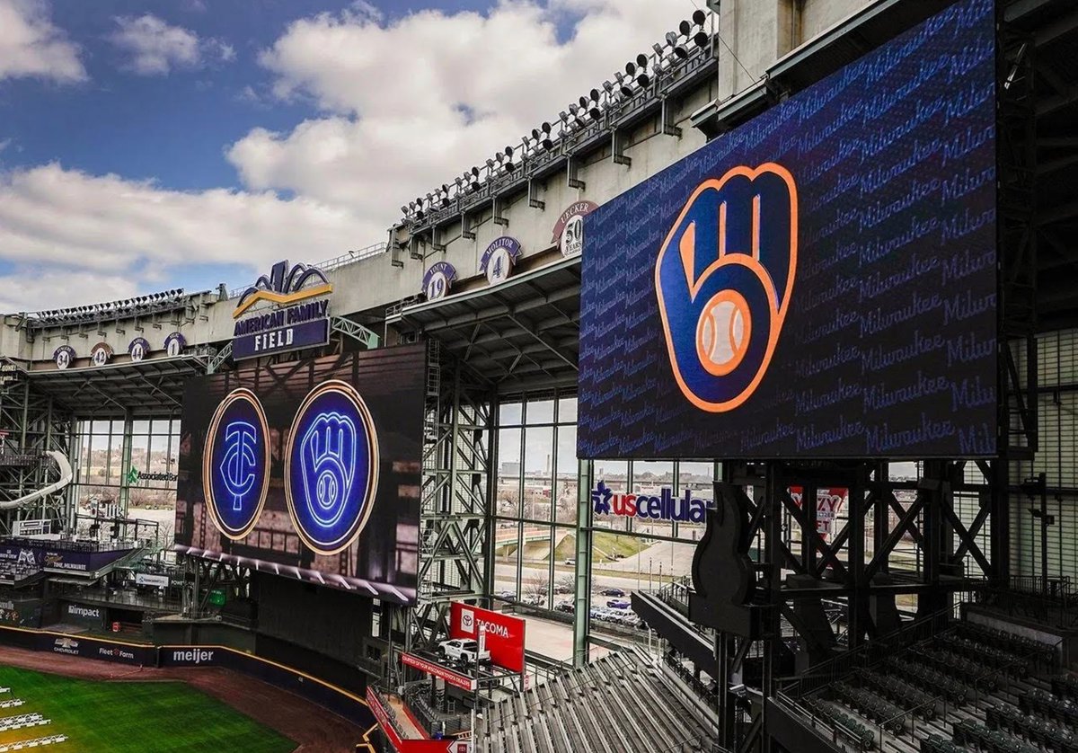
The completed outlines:
{"type": "Polygon", "coordinates": [[[421,225],[436,216],[459,211],[469,195],[492,181],[511,179],[530,160],[564,150],[572,137],[592,126],[609,127],[623,111],[634,109],[640,98],[655,94],[664,80],[676,76],[690,60],[714,54],[713,36],[704,29],[707,18],[704,11],[693,12],[691,20],[682,20],[677,31],[666,35],[664,43],[653,44],[650,55],[641,53],[626,63],[624,72],[616,72],[613,81],[603,82],[602,88],[593,88],[562,110],[553,124],[545,122],[533,128],[529,136],[521,138],[520,147],[507,146],[484,165],[475,165],[452,183],[442,183],[402,206],[404,222],[421,225]]]}

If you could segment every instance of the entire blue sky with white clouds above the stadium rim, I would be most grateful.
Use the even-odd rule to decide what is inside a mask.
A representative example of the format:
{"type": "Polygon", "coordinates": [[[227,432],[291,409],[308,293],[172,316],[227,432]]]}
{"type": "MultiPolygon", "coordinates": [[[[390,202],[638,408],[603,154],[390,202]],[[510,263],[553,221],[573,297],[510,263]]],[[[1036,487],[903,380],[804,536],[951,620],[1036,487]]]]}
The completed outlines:
{"type": "Polygon", "coordinates": [[[0,311],[383,241],[695,2],[0,0],[0,311]]]}

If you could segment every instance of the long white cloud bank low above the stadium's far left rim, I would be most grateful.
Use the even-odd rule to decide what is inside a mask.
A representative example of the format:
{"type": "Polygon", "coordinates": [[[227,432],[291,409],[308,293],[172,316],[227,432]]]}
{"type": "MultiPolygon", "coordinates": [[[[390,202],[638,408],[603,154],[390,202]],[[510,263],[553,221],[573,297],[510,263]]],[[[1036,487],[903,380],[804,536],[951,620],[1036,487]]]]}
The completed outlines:
{"type": "Polygon", "coordinates": [[[191,264],[238,263],[253,277],[298,248],[318,261],[382,237],[375,231],[347,209],[273,192],[169,191],[57,164],[0,174],[0,259],[39,270],[32,279],[71,280],[0,277],[0,311],[55,307],[59,292],[70,303],[69,290],[107,300],[182,279],[191,264]],[[86,279],[116,282],[77,287],[86,279]]]}

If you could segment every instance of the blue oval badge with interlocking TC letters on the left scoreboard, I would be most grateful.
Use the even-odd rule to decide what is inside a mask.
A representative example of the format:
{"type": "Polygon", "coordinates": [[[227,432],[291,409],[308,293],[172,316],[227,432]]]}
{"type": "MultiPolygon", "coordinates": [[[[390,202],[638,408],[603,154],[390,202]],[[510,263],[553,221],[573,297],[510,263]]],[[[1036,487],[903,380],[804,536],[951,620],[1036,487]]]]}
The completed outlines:
{"type": "Polygon", "coordinates": [[[203,454],[203,483],[213,523],[240,539],[254,528],[270,485],[270,432],[250,389],[233,389],[213,412],[203,454]]]}

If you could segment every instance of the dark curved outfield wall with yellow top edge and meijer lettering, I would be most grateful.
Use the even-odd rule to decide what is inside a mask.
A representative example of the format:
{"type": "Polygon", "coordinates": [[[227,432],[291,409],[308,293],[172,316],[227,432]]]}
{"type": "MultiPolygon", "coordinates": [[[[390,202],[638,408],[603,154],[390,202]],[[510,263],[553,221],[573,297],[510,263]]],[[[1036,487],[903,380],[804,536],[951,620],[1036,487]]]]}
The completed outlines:
{"type": "Polygon", "coordinates": [[[138,644],[3,626],[0,626],[0,645],[135,667],[227,669],[294,693],[340,714],[361,729],[370,729],[376,724],[362,697],[365,684],[357,693],[351,693],[293,667],[227,646],[138,644]]]}

